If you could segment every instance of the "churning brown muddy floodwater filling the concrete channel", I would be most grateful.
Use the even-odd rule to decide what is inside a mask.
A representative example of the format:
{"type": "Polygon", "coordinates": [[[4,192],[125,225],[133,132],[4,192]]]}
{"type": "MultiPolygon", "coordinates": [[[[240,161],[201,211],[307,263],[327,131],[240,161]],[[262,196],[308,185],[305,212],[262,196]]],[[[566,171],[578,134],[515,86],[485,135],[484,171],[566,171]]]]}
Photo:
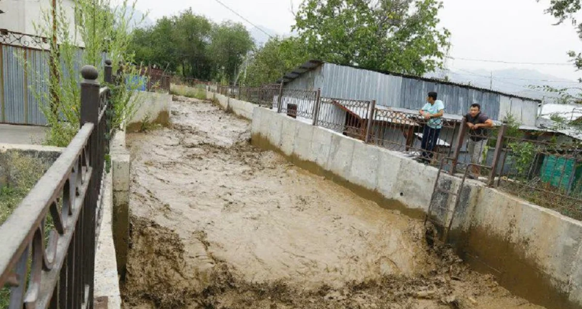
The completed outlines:
{"type": "Polygon", "coordinates": [[[250,145],[250,123],[175,97],[130,134],[124,308],[542,308],[430,249],[421,221],[250,145]]]}

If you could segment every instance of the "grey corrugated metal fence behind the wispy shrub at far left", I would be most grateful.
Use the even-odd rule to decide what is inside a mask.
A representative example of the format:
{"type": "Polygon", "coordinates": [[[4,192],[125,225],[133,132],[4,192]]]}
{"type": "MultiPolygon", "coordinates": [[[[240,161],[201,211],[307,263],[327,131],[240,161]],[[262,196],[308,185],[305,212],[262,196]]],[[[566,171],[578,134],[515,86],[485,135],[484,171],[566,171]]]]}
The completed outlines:
{"type": "MultiPolygon", "coordinates": [[[[102,65],[107,55],[103,55],[102,65]]],[[[76,52],[74,71],[79,72],[83,66],[83,50],[76,52]]],[[[68,74],[65,64],[61,63],[63,72],[68,74]]],[[[37,98],[39,92],[48,94],[49,52],[17,46],[0,45],[0,123],[46,125],[47,120],[42,107],[45,98],[37,98]],[[22,65],[22,58],[30,66],[27,74],[22,65]]],[[[80,74],[76,74],[80,79],[80,74]]],[[[44,97],[44,96],[43,96],[44,97]]]]}

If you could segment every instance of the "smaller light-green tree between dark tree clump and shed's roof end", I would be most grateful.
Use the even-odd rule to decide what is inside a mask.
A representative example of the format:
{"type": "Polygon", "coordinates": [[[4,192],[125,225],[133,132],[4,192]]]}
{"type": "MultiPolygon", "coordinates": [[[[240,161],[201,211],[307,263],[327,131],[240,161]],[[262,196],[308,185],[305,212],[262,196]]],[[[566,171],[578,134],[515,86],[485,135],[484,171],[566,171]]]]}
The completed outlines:
{"type": "Polygon", "coordinates": [[[271,84],[310,59],[297,38],[271,38],[255,51],[244,83],[253,87],[271,84]]]}

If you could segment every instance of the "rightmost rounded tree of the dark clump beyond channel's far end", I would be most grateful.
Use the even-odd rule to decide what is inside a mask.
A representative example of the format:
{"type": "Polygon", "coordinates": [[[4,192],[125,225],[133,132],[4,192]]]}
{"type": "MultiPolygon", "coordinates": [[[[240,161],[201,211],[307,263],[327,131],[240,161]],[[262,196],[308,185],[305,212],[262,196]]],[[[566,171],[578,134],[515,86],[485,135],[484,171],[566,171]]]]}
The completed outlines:
{"type": "Polygon", "coordinates": [[[226,21],[215,26],[208,49],[214,64],[215,79],[234,81],[244,57],[253,47],[253,38],[242,24],[226,21]]]}

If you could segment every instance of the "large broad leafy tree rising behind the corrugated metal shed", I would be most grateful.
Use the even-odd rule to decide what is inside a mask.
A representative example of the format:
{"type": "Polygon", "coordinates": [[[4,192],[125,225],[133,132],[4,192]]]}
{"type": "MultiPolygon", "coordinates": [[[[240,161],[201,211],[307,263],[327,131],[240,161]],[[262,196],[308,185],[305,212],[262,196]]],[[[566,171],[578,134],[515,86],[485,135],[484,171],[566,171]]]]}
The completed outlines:
{"type": "Polygon", "coordinates": [[[315,58],[420,76],[441,67],[449,48],[441,8],[437,0],[304,0],[293,29],[315,58]]]}

